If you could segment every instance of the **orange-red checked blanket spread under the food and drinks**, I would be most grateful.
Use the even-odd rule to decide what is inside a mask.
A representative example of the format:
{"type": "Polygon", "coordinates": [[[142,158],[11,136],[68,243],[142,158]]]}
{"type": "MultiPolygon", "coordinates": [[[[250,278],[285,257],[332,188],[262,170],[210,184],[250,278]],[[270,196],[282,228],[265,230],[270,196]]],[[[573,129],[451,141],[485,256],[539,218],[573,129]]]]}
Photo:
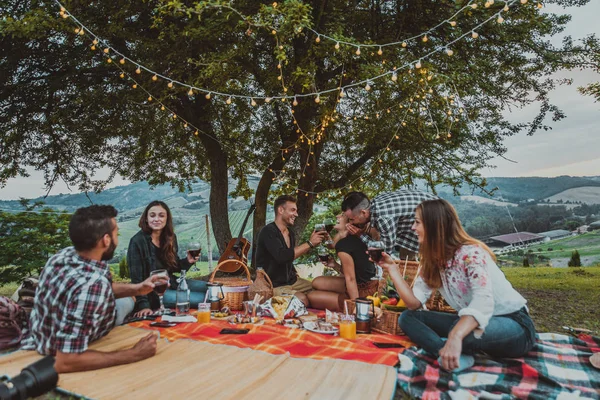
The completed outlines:
{"type": "Polygon", "coordinates": [[[382,334],[357,335],[349,341],[331,335],[322,335],[302,329],[287,328],[266,319],[264,325],[232,325],[226,321],[211,320],[206,324],[179,324],[172,328],[153,328],[148,321],[133,322],[133,327],[155,329],[161,337],[174,341],[193,339],[214,344],[261,350],[271,354],[289,353],[292,357],[322,359],[340,359],[362,361],[371,364],[396,365],[398,352],[402,348],[380,349],[373,342],[399,343],[409,347],[413,343],[406,336],[382,334]],[[246,335],[221,335],[223,328],[248,328],[246,335]]]}

